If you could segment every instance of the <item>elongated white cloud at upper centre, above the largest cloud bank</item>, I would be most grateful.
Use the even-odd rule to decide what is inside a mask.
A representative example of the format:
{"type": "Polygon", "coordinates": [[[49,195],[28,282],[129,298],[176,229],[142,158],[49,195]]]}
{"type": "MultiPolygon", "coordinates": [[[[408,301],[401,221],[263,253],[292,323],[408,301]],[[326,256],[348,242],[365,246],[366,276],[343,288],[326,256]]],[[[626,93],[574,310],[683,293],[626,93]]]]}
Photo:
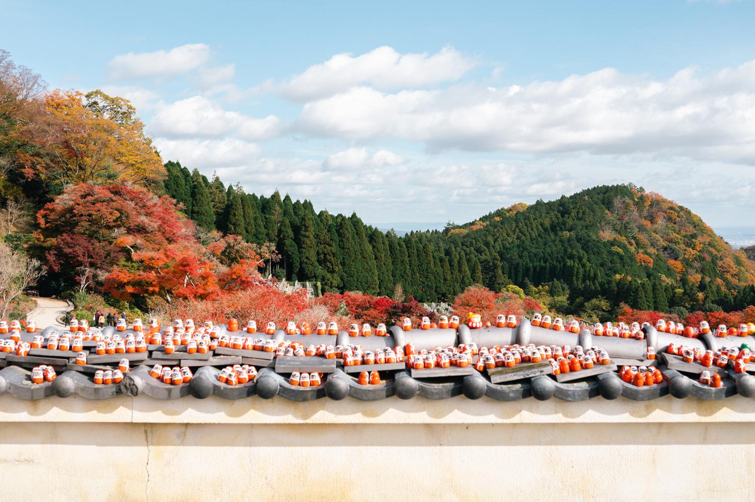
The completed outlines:
{"type": "Polygon", "coordinates": [[[306,101],[332,96],[360,84],[391,90],[456,81],[476,64],[476,60],[453,47],[444,47],[432,55],[399,54],[393,47],[377,47],[356,57],[347,53],[336,54],[325,63],[310,66],[291,80],[280,84],[268,81],[260,87],[290,99],[306,101]]]}

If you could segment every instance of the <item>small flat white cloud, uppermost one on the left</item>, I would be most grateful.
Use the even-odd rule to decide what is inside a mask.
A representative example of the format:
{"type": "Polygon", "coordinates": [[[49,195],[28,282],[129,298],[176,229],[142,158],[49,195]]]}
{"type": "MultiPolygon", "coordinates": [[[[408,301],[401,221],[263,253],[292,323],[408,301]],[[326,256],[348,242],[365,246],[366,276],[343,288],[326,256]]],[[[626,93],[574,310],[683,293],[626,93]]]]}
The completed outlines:
{"type": "Polygon", "coordinates": [[[110,77],[119,80],[174,77],[197,69],[208,60],[210,47],[205,44],[186,44],[170,51],[121,54],[112,58],[108,68],[110,77]]]}

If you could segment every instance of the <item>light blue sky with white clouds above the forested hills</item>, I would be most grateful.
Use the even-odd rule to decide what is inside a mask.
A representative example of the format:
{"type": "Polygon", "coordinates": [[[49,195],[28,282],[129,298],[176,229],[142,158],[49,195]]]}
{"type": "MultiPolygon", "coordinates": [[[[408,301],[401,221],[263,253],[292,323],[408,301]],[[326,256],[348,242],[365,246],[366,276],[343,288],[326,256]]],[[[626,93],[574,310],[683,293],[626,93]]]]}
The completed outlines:
{"type": "Polygon", "coordinates": [[[631,181],[751,223],[753,2],[467,3],[2,2],[0,47],[132,99],[165,160],[368,222],[631,181]]]}

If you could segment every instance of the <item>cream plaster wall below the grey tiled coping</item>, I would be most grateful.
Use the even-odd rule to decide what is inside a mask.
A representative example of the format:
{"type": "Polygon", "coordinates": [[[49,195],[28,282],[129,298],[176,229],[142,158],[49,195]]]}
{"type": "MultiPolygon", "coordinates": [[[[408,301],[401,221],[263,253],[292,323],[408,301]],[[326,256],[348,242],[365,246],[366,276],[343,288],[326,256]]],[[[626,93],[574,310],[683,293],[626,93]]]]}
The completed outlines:
{"type": "Polygon", "coordinates": [[[748,500],[752,406],[0,396],[2,499],[748,500]]]}

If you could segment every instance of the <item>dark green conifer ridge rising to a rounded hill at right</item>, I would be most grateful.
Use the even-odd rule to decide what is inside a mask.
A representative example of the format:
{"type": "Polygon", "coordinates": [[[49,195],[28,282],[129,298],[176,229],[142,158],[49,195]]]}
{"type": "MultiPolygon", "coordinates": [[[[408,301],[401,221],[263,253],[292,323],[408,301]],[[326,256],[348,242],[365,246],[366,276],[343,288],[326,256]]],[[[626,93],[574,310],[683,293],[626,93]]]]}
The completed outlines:
{"type": "Polygon", "coordinates": [[[308,200],[245,194],[176,162],[165,167],[166,192],[197,224],[268,243],[280,256],[274,275],[319,283],[321,292],[390,296],[400,284],[405,295],[441,301],[473,283],[495,291],[513,284],[562,298],[564,311],[594,300],[682,314],[755,302],[755,264],[744,253],[685,207],[633,185],[515,204],[466,225],[398,237],[356,214],[318,213],[308,200]]]}

